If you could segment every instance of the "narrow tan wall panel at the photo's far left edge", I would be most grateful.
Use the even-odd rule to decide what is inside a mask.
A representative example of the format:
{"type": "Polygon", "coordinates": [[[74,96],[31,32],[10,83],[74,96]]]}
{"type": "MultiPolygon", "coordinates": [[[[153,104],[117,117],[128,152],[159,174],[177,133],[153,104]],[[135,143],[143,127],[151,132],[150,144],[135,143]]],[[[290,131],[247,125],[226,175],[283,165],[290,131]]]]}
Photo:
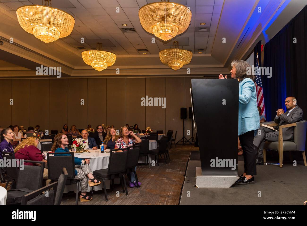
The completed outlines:
{"type": "Polygon", "coordinates": [[[12,80],[11,79],[0,80],[0,90],[1,90],[0,127],[6,128],[12,125],[12,105],[10,105],[10,99],[12,99],[12,80]]]}

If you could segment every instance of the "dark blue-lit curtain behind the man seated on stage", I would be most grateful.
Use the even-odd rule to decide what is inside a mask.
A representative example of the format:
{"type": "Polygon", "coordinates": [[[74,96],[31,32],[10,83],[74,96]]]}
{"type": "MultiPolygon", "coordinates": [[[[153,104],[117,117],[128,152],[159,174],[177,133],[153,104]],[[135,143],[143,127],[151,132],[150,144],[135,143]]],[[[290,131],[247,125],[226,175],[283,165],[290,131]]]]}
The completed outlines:
{"type": "Polygon", "coordinates": [[[263,61],[264,67],[272,67],[272,77],[262,76],[267,121],[273,121],[278,108],[286,109],[288,96],[297,98],[306,120],[307,5],[265,44],[263,61]]]}

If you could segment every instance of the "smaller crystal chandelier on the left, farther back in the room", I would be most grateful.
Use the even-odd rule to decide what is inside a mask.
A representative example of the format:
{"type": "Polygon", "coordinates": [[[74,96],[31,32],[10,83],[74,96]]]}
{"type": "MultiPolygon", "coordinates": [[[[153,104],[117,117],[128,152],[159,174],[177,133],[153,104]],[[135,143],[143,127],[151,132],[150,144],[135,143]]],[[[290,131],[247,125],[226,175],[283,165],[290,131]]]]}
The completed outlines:
{"type": "Polygon", "coordinates": [[[102,71],[115,63],[116,55],[102,50],[102,43],[97,43],[97,50],[86,50],[82,53],[84,63],[97,71],[102,71]]]}

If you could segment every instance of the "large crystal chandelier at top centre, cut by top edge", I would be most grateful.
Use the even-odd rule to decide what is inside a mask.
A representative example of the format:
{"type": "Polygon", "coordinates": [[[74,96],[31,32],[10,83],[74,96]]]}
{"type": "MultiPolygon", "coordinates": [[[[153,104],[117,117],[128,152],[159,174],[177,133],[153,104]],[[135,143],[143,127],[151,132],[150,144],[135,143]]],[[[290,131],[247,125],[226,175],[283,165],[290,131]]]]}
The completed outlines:
{"type": "Polygon", "coordinates": [[[188,29],[192,13],[181,4],[161,0],[143,6],[138,16],[146,31],[167,41],[188,29]]]}

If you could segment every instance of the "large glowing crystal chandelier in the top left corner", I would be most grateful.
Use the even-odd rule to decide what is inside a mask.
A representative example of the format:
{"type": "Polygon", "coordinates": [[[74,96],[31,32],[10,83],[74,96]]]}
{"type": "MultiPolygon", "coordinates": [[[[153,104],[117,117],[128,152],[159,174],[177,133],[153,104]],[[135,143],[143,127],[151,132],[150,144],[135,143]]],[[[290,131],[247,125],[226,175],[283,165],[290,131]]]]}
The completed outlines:
{"type": "Polygon", "coordinates": [[[68,36],[75,24],[70,14],[51,7],[51,0],[42,0],[42,6],[21,6],[16,14],[22,29],[45,43],[68,36]]]}

